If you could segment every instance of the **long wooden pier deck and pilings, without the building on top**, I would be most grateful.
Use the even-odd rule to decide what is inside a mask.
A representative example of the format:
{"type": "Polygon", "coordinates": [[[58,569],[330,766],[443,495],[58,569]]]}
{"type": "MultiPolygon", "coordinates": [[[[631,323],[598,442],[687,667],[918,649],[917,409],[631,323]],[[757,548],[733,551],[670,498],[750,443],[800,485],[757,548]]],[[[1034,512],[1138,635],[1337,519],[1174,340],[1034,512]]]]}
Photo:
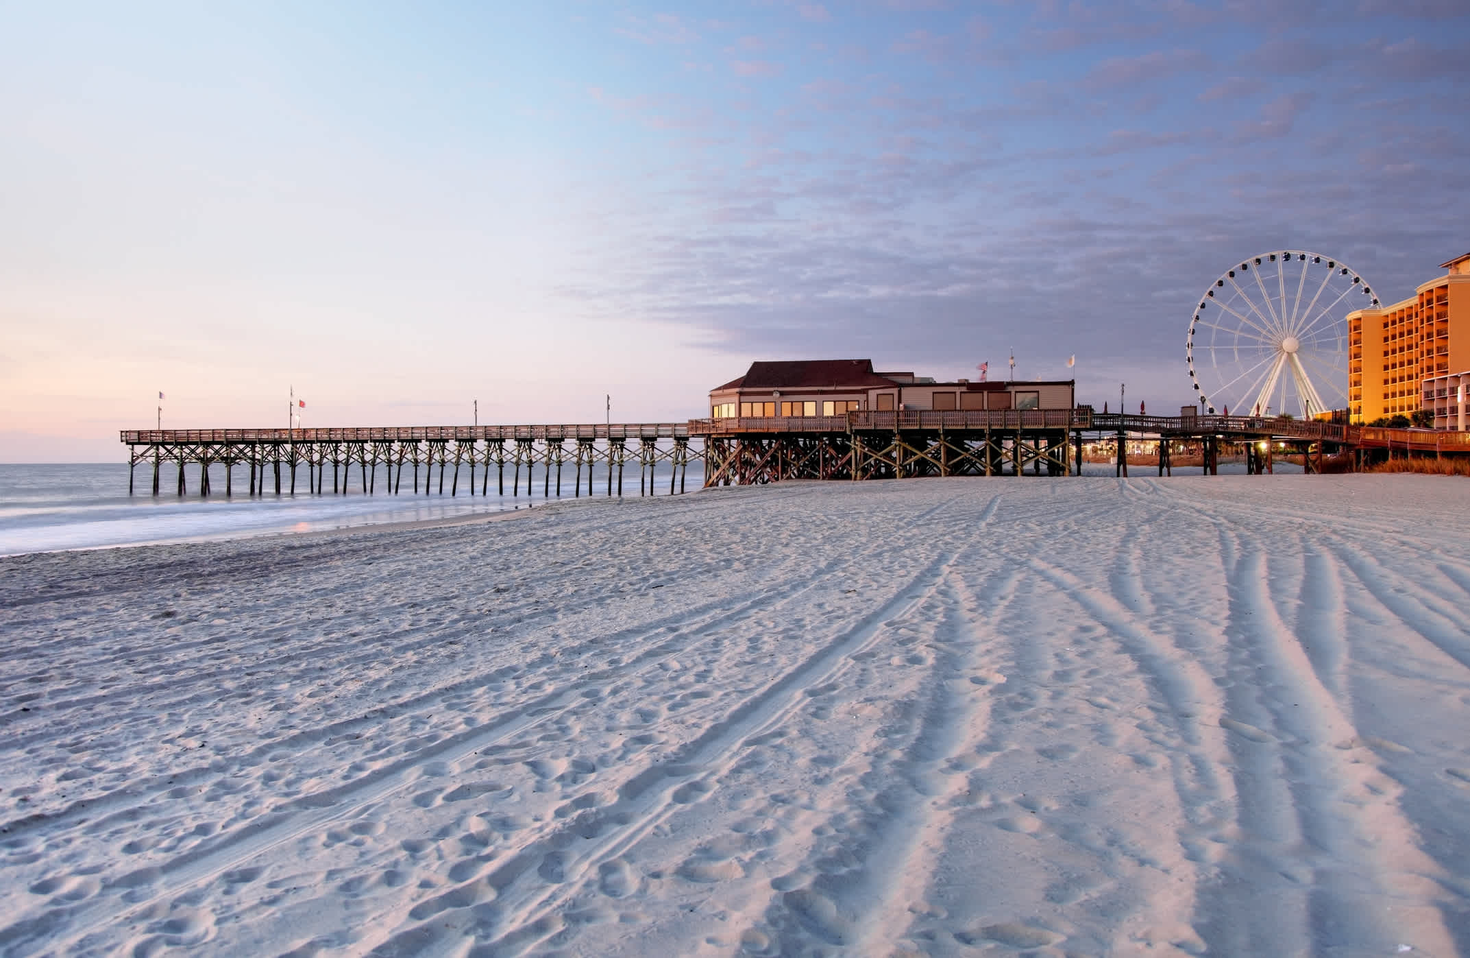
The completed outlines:
{"type": "Polygon", "coordinates": [[[639,494],[656,494],[654,469],[669,466],[667,494],[685,492],[689,462],[703,462],[704,486],[750,486],[782,480],[844,480],[947,475],[1080,475],[1086,439],[1117,444],[1117,475],[1127,475],[1129,443],[1155,443],[1158,474],[1173,472],[1180,446],[1197,447],[1204,472],[1219,474],[1220,447],[1245,449],[1247,472],[1273,471],[1282,450],[1299,455],[1308,472],[1324,458],[1351,452],[1354,466],[1405,455],[1470,455],[1470,433],[1391,430],[1323,421],[1258,416],[1135,416],[1076,409],[860,411],[835,416],[754,416],[594,425],[442,425],[318,430],[126,430],[128,492],[137,466],[151,465],[160,492],[163,464],[198,468],[197,490],[212,494],[209,469],[223,465],[226,496],[232,466],[247,468],[251,496],[298,489],[345,494],[357,489],[404,494],[623,494],[625,469],[638,468],[639,494]],[[509,466],[509,469],[507,469],[509,466]],[[435,474],[435,468],[438,472],[435,474]],[[328,471],[331,486],[328,486],[328,471]],[[509,471],[509,477],[507,477],[509,471]],[[522,480],[522,472],[525,474],[522,480]],[[539,475],[537,475],[539,472],[539,475]],[[585,477],[585,480],[584,480],[585,477]],[[462,484],[462,478],[465,483],[462,484]],[[507,483],[509,478],[509,483],[507,483]],[[422,480],[422,483],[420,483],[422,480]]]}

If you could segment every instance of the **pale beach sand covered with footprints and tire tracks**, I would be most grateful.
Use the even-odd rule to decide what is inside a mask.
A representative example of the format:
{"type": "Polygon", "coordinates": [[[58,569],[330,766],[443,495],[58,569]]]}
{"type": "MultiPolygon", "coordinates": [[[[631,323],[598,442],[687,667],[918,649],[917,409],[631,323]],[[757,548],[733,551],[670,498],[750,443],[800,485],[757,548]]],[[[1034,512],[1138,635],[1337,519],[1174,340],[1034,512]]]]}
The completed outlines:
{"type": "Polygon", "coordinates": [[[0,561],[0,952],[1470,952],[1470,483],[0,561]]]}

